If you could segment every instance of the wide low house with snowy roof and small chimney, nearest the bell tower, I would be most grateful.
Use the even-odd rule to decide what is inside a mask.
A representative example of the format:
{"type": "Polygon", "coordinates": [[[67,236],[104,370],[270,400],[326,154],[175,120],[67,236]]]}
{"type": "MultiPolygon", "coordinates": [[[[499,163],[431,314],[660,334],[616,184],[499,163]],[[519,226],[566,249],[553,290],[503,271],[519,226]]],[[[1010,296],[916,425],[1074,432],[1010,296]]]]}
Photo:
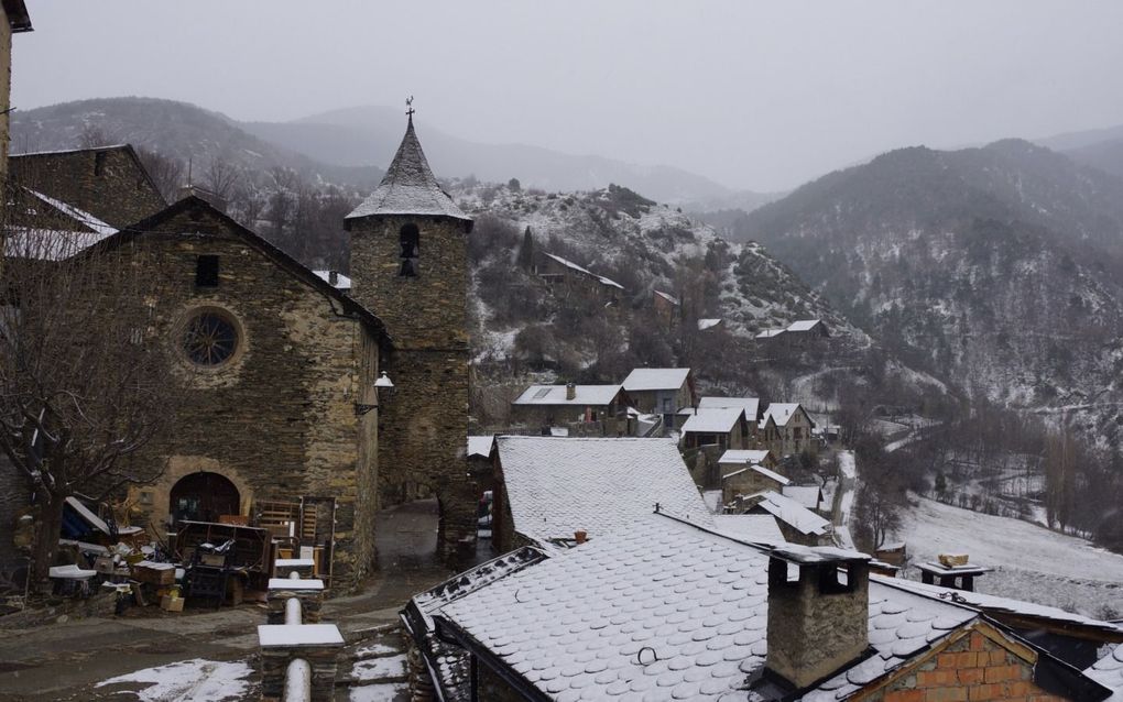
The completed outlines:
{"type": "Polygon", "coordinates": [[[511,420],[539,429],[593,436],[628,436],[629,394],[620,385],[531,385],[511,402],[511,420]]]}

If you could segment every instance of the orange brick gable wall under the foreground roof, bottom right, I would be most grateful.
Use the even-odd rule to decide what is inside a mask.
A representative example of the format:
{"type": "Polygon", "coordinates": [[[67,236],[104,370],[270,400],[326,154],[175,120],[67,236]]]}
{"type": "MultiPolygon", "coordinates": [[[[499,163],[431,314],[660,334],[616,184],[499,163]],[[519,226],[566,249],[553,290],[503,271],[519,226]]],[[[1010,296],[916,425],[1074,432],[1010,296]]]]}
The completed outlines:
{"type": "Polygon", "coordinates": [[[884,702],[974,702],[1011,700],[1060,702],[1033,682],[1037,654],[1015,644],[1014,650],[997,642],[1001,635],[971,630],[949,646],[909,666],[892,682],[868,696],[884,702]]]}

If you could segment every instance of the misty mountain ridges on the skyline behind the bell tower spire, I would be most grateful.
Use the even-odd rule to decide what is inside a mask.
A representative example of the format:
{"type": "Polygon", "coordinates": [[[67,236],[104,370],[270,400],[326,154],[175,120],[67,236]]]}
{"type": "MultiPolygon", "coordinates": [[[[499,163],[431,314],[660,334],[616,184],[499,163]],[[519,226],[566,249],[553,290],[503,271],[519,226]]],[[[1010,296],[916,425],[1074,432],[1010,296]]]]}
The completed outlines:
{"type": "MultiPolygon", "coordinates": [[[[404,129],[396,108],[363,106],[286,122],[234,120],[186,102],[154,98],[101,98],[19,111],[12,152],[74,147],[95,127],[113,140],[146,146],[194,163],[216,156],[247,168],[276,165],[341,185],[376,184],[404,129]]],[[[774,195],[734,191],[673,166],[643,166],[595,155],[572,155],[521,144],[478,144],[448,135],[418,118],[418,129],[442,177],[475,175],[487,182],[514,177],[526,188],[591,191],[626,185],[659,202],[715,203],[752,209],[774,195]]]]}

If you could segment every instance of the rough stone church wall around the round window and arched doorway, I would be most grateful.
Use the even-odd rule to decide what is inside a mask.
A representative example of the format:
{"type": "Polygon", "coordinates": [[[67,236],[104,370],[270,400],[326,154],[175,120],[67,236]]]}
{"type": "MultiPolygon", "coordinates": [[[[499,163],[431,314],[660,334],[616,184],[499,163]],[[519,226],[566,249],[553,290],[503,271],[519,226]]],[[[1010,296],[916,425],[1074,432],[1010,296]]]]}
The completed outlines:
{"type": "Polygon", "coordinates": [[[230,480],[244,514],[261,500],[334,498],[334,582],[362,576],[374,563],[377,410],[359,416],[355,403],[374,402],[377,344],[206,206],[158,230],[175,236],[138,239],[162,268],[147,300],[146,338],[167,350],[168,392],[183,394],[170,399],[179,405],[172,437],[141,456],[165,473],[135,487],[133,499],[159,528],[175,481],[195,471],[230,480]],[[218,286],[195,285],[202,254],[219,257],[218,286]],[[238,330],[237,350],[217,367],[193,365],[182,349],[199,310],[219,312],[238,330]]]}

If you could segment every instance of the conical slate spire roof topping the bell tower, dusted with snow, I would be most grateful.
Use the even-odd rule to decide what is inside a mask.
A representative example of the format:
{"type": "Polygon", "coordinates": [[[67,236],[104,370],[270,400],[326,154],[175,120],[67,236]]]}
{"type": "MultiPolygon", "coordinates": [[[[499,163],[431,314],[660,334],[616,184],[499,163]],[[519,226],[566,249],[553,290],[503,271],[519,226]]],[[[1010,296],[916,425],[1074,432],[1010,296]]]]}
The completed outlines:
{"type": "Polygon", "coordinates": [[[374,215],[427,215],[472,221],[440,189],[413,130],[412,116],[385,177],[347,219],[374,215]]]}

